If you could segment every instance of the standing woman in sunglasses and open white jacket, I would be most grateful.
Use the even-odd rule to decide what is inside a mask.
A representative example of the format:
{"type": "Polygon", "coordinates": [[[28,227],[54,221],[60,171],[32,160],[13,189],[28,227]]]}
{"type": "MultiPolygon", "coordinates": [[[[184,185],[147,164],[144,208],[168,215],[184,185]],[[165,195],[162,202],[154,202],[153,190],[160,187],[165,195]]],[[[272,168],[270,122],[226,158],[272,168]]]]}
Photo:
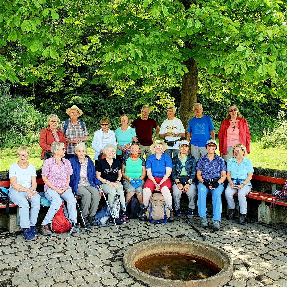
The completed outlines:
{"type": "Polygon", "coordinates": [[[101,129],[94,132],[92,149],[95,150],[95,166],[97,166],[98,161],[102,159],[103,148],[107,144],[111,144],[117,147],[116,137],[113,131],[109,129],[110,118],[104,116],[101,118],[101,129]]]}

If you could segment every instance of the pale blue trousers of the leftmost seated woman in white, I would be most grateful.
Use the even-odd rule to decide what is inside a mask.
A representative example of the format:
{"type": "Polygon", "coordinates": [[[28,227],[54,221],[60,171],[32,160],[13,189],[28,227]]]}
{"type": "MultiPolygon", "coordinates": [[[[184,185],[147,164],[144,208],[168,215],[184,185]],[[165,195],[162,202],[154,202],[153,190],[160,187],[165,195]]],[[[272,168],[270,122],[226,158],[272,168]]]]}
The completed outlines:
{"type": "Polygon", "coordinates": [[[37,193],[30,199],[27,198],[29,192],[17,191],[14,188],[9,188],[9,199],[19,206],[20,226],[30,228],[37,223],[38,213],[40,210],[41,196],[37,193]],[[29,202],[31,209],[29,211],[29,202]]]}

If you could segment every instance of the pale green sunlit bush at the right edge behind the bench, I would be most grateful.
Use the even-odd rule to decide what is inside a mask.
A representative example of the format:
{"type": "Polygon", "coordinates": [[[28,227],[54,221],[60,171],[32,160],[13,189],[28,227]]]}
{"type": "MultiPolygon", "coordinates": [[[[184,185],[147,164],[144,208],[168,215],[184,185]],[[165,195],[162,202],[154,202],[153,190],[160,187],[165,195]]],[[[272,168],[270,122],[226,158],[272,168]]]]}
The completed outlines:
{"type": "Polygon", "coordinates": [[[280,147],[287,150],[287,118],[286,113],[282,110],[278,112],[278,117],[275,120],[277,127],[272,132],[267,131],[260,140],[262,148],[280,147]]]}

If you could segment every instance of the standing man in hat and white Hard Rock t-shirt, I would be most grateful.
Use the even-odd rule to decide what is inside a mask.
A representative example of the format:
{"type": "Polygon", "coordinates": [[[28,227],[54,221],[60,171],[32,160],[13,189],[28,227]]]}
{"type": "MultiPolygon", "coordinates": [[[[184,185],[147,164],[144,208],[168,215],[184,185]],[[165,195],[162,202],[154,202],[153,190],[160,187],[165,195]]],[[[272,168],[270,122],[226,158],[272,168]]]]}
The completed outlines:
{"type": "Polygon", "coordinates": [[[174,115],[177,111],[177,107],[174,104],[169,104],[165,110],[168,118],[164,120],[160,127],[160,139],[164,139],[164,142],[168,145],[167,150],[164,152],[168,154],[170,158],[177,156],[179,153],[179,141],[181,137],[185,137],[185,129],[180,119],[174,115]]]}

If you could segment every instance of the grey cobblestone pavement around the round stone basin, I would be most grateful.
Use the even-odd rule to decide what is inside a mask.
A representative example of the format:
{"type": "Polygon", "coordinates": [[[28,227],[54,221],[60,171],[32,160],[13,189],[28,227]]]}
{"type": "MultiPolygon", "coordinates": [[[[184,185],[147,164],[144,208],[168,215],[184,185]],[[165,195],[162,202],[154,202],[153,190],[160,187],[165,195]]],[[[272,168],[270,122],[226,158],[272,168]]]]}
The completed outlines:
{"type": "MultiPolygon", "coordinates": [[[[190,220],[199,226],[199,217],[190,220]]],[[[123,268],[123,254],[133,244],[157,237],[202,240],[182,219],[155,225],[129,220],[115,227],[92,227],[90,235],[67,233],[26,242],[22,234],[1,234],[1,286],[145,286],[123,268]]],[[[287,228],[255,221],[240,226],[223,220],[221,231],[202,231],[212,243],[227,251],[234,272],[226,286],[287,287],[287,228]]]]}

